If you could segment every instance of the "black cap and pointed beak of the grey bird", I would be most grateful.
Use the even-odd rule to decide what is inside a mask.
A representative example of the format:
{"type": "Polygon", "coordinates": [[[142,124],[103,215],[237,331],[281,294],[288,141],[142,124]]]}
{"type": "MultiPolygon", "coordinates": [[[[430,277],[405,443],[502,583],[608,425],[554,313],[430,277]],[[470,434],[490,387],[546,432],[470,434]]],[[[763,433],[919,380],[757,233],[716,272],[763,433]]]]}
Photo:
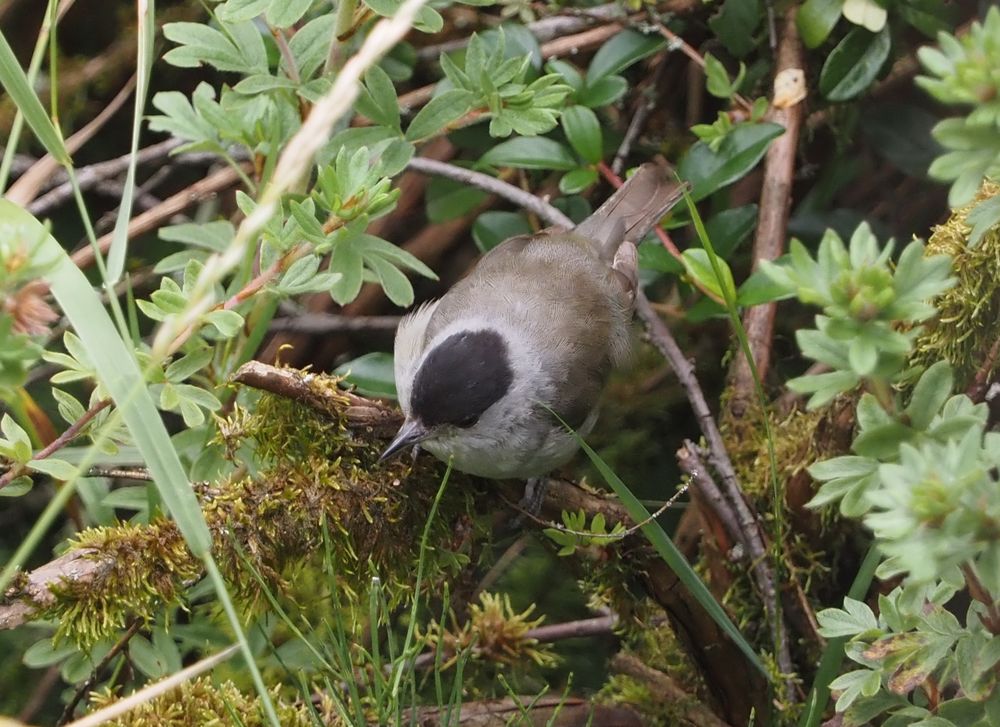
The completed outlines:
{"type": "Polygon", "coordinates": [[[513,382],[503,336],[489,329],[453,333],[420,364],[410,393],[410,415],[380,459],[419,444],[443,425],[474,426],[513,382]]]}

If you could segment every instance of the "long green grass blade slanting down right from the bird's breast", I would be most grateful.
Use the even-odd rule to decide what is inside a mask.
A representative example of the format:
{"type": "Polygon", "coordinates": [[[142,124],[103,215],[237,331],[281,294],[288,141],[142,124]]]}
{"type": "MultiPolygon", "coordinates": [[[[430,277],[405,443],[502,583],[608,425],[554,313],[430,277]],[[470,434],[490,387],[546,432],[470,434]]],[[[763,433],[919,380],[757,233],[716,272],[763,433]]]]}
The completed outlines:
{"type": "MultiPolygon", "coordinates": [[[[554,414],[554,412],[553,412],[554,414]]],[[[562,420],[560,420],[562,421],[562,420]]],[[[563,425],[565,426],[565,422],[563,425]]],[[[739,648],[740,651],[744,653],[747,659],[753,664],[761,674],[766,678],[770,679],[767,669],[764,667],[764,663],[757,656],[757,652],[753,650],[750,643],[743,637],[740,630],[736,628],[736,625],[729,619],[729,614],[726,613],[725,609],[719,605],[719,602],[715,600],[711,592],[702,582],[701,578],[697,573],[694,572],[694,568],[685,560],[684,555],[677,549],[677,546],[673,544],[673,541],[667,537],[667,534],[660,527],[660,524],[655,520],[650,520],[649,510],[647,510],[639,498],[632,494],[632,491],[628,488],[621,478],[615,474],[608,464],[601,459],[601,456],[591,449],[583,438],[574,432],[569,427],[566,427],[574,437],[576,437],[577,442],[580,443],[580,447],[583,449],[587,457],[597,468],[597,471],[601,473],[601,477],[604,478],[611,489],[615,491],[618,495],[618,499],[621,500],[622,505],[628,511],[629,517],[631,517],[635,522],[646,522],[642,526],[642,533],[646,536],[656,552],[659,553],[660,557],[667,566],[672,570],[676,576],[680,579],[684,587],[688,589],[695,600],[701,604],[701,607],[705,609],[712,620],[718,624],[719,628],[722,629],[733,643],[739,648]]]]}

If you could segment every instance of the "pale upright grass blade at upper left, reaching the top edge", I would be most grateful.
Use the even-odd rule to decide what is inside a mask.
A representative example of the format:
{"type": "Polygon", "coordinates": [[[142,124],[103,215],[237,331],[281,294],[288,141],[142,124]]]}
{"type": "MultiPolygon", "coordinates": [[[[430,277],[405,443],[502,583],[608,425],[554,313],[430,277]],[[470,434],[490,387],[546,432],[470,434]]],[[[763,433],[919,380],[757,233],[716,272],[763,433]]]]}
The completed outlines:
{"type": "Polygon", "coordinates": [[[129,151],[128,171],[125,174],[125,188],[122,190],[122,203],[118,208],[118,219],[111,237],[111,247],[108,249],[108,279],[109,285],[114,285],[125,270],[125,251],[128,247],[128,223],[132,218],[132,203],[135,198],[135,167],[139,150],[139,134],[142,132],[143,111],[146,106],[146,94],[149,90],[149,75],[153,69],[153,36],[156,32],[154,0],[146,0],[137,4],[138,20],[138,52],[136,58],[135,112],[132,115],[132,148],[129,151]],[[145,5],[145,9],[143,9],[145,5]]]}

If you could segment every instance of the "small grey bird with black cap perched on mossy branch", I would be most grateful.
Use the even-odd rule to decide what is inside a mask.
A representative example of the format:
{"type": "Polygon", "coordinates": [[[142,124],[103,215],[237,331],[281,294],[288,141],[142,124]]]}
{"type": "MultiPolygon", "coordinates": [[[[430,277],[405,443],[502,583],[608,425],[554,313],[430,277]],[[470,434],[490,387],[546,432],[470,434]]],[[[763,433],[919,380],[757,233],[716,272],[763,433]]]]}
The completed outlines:
{"type": "Polygon", "coordinates": [[[577,443],[546,406],[581,434],[593,426],[628,356],[636,244],[682,196],[667,175],[644,164],[576,229],[505,240],[403,318],[394,373],[406,421],[382,458],[419,444],[494,479],[565,464],[577,443]]]}

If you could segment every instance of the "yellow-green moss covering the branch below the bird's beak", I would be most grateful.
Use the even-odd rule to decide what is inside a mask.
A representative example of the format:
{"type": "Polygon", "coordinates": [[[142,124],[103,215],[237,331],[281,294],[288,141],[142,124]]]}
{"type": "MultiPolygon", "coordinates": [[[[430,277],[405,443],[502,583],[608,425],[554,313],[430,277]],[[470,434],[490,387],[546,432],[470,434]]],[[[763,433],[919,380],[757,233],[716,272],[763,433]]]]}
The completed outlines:
{"type": "MultiPolygon", "coordinates": [[[[236,474],[199,485],[197,494],[214,556],[244,612],[265,604],[265,588],[283,594],[284,574],[325,545],[342,595],[366,592],[373,574],[390,607],[409,595],[421,533],[440,485],[436,462],[423,458],[411,466],[400,458],[377,465],[376,447],[342,418],[270,395],[253,412],[238,407],[220,422],[220,432],[236,474]],[[239,474],[248,451],[258,469],[254,476],[239,474]]],[[[431,583],[453,573],[482,539],[471,515],[471,489],[462,480],[453,478],[430,534],[431,583]]],[[[96,575],[53,588],[56,603],[44,615],[59,623],[57,640],[84,648],[113,638],[134,618],[151,621],[165,603],[182,602],[202,572],[165,518],[87,530],[71,547],[88,549],[96,575]]]]}

